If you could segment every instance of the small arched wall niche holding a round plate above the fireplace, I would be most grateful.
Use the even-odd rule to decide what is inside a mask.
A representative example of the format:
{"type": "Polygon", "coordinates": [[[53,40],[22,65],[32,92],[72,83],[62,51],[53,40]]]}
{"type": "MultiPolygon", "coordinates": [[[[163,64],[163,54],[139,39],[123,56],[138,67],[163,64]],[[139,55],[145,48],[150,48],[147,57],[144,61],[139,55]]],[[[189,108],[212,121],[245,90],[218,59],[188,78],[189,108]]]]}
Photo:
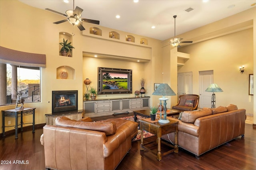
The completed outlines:
{"type": "Polygon", "coordinates": [[[70,66],[59,66],[56,69],[57,79],[75,79],[75,69],[70,66]]]}

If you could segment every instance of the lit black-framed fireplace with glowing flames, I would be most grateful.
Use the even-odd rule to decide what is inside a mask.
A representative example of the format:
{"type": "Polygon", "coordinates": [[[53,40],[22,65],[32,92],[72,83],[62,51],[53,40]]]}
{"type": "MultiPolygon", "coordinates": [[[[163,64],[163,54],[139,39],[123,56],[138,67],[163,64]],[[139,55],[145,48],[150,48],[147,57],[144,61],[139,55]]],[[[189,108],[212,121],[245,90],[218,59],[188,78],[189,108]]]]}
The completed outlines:
{"type": "Polygon", "coordinates": [[[52,115],[78,110],[77,90],[52,91],[52,115]]]}

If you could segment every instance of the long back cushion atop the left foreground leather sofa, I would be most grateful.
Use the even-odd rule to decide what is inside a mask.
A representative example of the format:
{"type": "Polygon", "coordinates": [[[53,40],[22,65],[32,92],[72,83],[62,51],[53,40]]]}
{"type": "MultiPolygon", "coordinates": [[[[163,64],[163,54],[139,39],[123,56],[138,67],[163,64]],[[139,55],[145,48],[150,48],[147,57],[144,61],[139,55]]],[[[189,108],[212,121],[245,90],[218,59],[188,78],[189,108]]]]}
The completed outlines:
{"type": "Polygon", "coordinates": [[[68,120],[64,117],[57,117],[55,120],[56,126],[75,127],[78,129],[87,129],[92,131],[100,131],[106,135],[112,135],[116,132],[116,124],[114,122],[83,122],[68,120]]]}

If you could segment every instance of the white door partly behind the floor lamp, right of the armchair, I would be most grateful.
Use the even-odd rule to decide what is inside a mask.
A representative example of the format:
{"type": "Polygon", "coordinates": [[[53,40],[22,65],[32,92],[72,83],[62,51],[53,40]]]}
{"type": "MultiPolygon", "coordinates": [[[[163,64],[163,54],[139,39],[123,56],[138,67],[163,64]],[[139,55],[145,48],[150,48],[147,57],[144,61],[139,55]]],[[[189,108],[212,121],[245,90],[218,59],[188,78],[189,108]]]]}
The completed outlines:
{"type": "Polygon", "coordinates": [[[213,70],[199,72],[199,106],[211,108],[212,92],[205,90],[213,83],[213,70]]]}

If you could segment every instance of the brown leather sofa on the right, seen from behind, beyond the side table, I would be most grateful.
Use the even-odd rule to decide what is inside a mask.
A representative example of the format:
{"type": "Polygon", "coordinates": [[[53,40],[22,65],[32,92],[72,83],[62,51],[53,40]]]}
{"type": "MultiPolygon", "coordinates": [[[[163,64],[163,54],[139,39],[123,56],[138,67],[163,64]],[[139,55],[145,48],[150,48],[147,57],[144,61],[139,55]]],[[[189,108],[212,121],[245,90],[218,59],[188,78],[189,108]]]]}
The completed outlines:
{"type": "MultiPolygon", "coordinates": [[[[168,119],[175,119],[170,117],[168,119]]],[[[246,110],[230,104],[227,107],[184,111],[178,120],[178,146],[196,158],[239,136],[244,136],[246,110]]],[[[174,141],[174,133],[162,139],[174,141]]]]}

